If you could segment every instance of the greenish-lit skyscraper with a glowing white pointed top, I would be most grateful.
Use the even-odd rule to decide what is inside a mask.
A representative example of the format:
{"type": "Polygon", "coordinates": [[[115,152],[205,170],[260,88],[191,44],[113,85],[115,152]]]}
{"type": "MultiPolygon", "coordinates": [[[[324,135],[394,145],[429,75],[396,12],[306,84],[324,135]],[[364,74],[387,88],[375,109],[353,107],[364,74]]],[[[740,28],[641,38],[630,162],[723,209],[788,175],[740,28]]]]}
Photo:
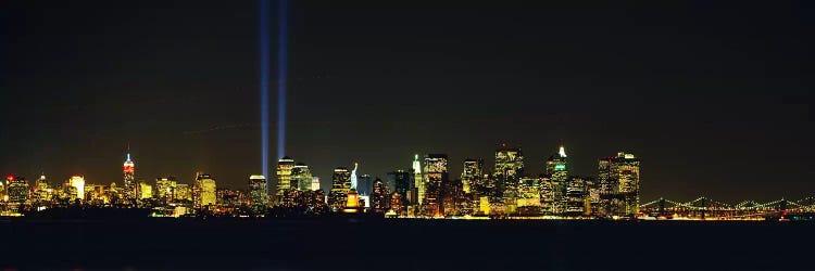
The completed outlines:
{"type": "Polygon", "coordinates": [[[566,167],[566,150],[561,145],[556,154],[547,159],[544,177],[547,184],[543,191],[549,195],[541,195],[544,201],[544,212],[561,215],[566,210],[566,182],[568,181],[568,169],[566,167]]]}

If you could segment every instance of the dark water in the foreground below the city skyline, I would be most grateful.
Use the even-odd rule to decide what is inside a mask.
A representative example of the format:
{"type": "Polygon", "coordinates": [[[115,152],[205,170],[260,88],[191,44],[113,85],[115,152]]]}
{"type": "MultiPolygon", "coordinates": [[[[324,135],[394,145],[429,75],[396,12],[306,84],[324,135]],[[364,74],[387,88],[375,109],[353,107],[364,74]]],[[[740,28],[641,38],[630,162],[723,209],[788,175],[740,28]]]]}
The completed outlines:
{"type": "Polygon", "coordinates": [[[195,270],[808,269],[805,222],[206,220],[0,223],[0,267],[195,270]]]}

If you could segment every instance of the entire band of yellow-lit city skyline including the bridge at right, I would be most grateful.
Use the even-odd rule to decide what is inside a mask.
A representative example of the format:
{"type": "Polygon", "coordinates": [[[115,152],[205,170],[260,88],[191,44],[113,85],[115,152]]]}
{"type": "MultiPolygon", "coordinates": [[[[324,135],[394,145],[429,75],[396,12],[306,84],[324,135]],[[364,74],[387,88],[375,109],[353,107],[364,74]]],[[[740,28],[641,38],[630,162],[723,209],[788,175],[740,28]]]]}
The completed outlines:
{"type": "Polygon", "coordinates": [[[58,188],[50,186],[45,175],[29,185],[25,178],[9,176],[0,182],[0,214],[115,207],[149,209],[152,217],[704,220],[755,219],[774,211],[786,215],[787,206],[813,210],[812,197],[732,205],[701,196],[689,202],[659,198],[640,204],[640,160],[634,154],[619,152],[600,158],[597,177],[568,175],[568,156],[562,145],[546,160],[538,177],[534,177],[536,170],[524,166],[524,157],[519,147],[502,144],[496,150],[493,168],[485,168],[482,158],[466,158],[460,179],[450,178],[447,154],[416,154],[409,169],[388,172],[386,180],[358,176],[361,167],[354,163],[353,170],[334,169],[331,189],[323,191],[309,166],[290,157],[278,160],[274,177],[251,175],[247,189],[228,190],[217,188],[215,179],[203,172],[196,173],[191,185],[172,177],[145,182],[136,178],[136,165],[127,154],[123,185],[87,183],[82,176],[73,176],[58,188]],[[666,216],[665,210],[674,215],[666,216]]]}

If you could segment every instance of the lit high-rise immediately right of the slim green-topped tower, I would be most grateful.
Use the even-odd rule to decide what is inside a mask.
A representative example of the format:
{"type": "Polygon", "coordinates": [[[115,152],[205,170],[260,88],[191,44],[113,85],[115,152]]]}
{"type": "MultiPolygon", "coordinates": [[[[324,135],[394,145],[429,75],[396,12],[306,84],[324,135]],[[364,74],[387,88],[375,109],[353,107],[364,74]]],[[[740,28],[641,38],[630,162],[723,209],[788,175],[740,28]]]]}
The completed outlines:
{"type": "Polygon", "coordinates": [[[424,177],[426,179],[424,182],[424,215],[438,217],[444,210],[442,196],[443,185],[448,182],[447,154],[428,154],[425,155],[424,162],[424,177]]]}

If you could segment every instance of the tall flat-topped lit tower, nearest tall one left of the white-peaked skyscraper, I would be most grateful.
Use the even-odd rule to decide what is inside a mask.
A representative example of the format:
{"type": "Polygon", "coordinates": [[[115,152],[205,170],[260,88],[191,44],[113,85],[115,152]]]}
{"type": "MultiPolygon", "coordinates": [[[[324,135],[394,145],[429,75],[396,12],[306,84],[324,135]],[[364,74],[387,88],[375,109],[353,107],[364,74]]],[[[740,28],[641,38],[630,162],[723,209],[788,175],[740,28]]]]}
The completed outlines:
{"type": "Polygon", "coordinates": [[[524,176],[524,153],[521,152],[521,147],[506,147],[506,144],[501,144],[501,149],[496,150],[493,173],[500,193],[514,192],[518,180],[524,176]]]}

